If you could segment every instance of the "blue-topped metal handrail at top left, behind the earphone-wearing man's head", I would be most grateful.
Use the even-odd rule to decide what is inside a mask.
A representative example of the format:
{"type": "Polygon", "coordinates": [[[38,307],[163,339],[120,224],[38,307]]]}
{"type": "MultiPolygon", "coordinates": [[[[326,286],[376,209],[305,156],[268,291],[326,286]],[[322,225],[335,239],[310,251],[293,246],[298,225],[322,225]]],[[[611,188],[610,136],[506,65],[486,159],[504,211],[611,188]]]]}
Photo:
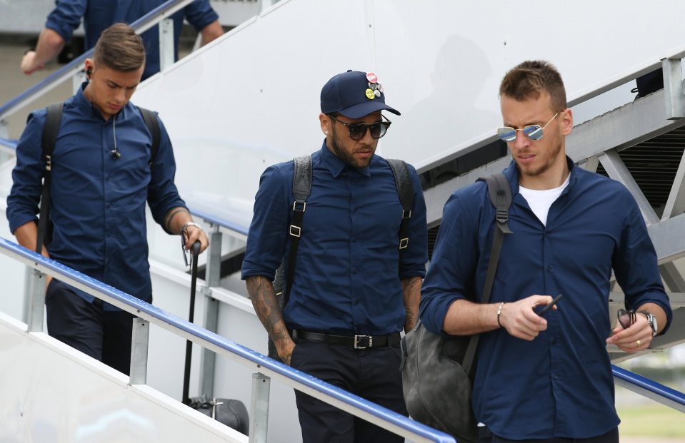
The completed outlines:
{"type": "MultiPolygon", "coordinates": [[[[192,3],[193,0],[169,0],[166,3],[157,6],[155,9],[149,13],[142,16],[140,19],[134,21],[131,24],[131,28],[136,31],[136,34],[142,34],[152,26],[158,24],[160,21],[169,18],[172,14],[184,6],[192,3]]],[[[0,121],[5,120],[7,117],[11,116],[13,113],[19,110],[22,106],[36,100],[40,96],[44,95],[51,89],[54,89],[68,78],[71,78],[76,73],[83,70],[83,63],[86,58],[93,55],[93,49],[89,49],[81,56],[74,58],[71,62],[67,63],[58,71],[51,73],[49,76],[44,78],[44,80],[39,81],[31,88],[26,89],[26,91],[19,94],[15,98],[0,106],[0,121]]]]}

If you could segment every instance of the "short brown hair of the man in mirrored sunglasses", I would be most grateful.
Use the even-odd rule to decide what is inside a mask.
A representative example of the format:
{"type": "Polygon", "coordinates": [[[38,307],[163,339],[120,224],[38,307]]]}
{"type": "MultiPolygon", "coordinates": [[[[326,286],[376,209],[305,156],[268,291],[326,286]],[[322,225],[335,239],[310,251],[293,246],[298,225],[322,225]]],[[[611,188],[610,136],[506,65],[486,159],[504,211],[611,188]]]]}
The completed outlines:
{"type": "Polygon", "coordinates": [[[508,96],[517,101],[539,98],[549,93],[552,111],[566,109],[566,88],[559,71],[552,63],[543,60],[529,60],[507,72],[499,85],[499,96],[508,96]]]}

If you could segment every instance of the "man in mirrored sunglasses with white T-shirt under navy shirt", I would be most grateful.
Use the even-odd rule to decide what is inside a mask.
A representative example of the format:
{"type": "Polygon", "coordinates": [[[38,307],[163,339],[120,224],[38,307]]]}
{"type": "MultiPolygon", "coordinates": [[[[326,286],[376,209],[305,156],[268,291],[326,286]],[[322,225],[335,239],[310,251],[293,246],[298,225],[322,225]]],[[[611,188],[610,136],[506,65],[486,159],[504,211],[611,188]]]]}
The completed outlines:
{"type": "Polygon", "coordinates": [[[481,333],[473,407],[485,424],[482,443],[617,443],[606,345],[644,350],[672,317],[654,246],[624,185],[566,156],[573,116],[554,66],[521,63],[499,93],[498,135],[514,158],[504,170],[513,233],[504,236],[491,300],[477,302],[495,209],[477,182],[445,205],[421,321],[436,333],[481,333]],[[636,311],[620,322],[609,318],[612,270],[636,311]],[[538,315],[560,293],[559,304],[538,315]]]}

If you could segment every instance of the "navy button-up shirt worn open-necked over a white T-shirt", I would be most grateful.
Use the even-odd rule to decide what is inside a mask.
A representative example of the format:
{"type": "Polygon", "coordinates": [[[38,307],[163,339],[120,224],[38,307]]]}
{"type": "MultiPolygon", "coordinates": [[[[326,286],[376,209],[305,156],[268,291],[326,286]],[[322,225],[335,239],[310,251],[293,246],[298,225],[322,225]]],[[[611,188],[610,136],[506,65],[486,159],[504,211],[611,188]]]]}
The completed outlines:
{"type": "MultiPolygon", "coordinates": [[[[514,201],[491,303],[529,295],[564,299],[533,341],[498,329],[481,335],[473,405],[476,418],[507,439],[586,438],[619,423],[606,338],[609,277],[633,308],[660,305],[671,322],[654,246],[640,210],[620,183],[574,167],[549,208],[546,226],[519,194],[514,162],[504,170],[514,201]]],[[[454,300],[483,290],[495,210],[484,182],[451,195],[421,296],[421,321],[442,332],[454,300]]],[[[478,298],[478,297],[476,297],[478,298]]]]}

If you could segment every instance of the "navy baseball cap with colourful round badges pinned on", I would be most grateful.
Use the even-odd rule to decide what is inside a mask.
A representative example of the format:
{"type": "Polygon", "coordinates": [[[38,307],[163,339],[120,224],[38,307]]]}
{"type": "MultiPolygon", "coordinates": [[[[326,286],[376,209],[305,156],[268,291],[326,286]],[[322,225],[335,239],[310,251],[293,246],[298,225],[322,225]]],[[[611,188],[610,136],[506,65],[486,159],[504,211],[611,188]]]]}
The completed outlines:
{"type": "Polygon", "coordinates": [[[376,74],[361,71],[339,73],[321,88],[321,112],[341,113],[349,118],[361,118],[376,111],[399,111],[385,103],[383,86],[376,74]]]}

